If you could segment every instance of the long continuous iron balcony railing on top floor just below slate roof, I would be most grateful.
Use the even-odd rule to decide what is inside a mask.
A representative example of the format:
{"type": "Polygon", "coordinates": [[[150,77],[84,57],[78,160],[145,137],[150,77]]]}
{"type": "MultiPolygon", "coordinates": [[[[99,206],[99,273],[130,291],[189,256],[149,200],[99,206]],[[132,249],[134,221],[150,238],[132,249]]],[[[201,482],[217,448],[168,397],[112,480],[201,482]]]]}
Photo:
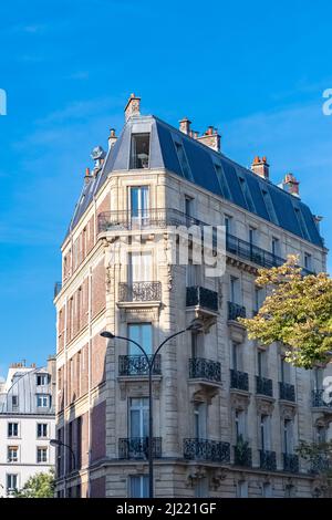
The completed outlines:
{"type": "MultiPolygon", "coordinates": [[[[220,223],[221,225],[221,223],[220,223]]],[[[173,208],[152,208],[136,211],[132,215],[128,210],[104,211],[98,215],[98,232],[114,230],[133,230],[148,228],[166,228],[167,226],[211,226],[190,217],[173,208]]],[[[216,228],[215,223],[215,228],[216,228]]],[[[284,263],[284,259],[273,254],[266,249],[259,248],[234,235],[226,236],[226,250],[236,257],[249,260],[263,268],[279,267],[284,263]]],[[[303,274],[310,274],[311,271],[303,268],[303,274]]]]}

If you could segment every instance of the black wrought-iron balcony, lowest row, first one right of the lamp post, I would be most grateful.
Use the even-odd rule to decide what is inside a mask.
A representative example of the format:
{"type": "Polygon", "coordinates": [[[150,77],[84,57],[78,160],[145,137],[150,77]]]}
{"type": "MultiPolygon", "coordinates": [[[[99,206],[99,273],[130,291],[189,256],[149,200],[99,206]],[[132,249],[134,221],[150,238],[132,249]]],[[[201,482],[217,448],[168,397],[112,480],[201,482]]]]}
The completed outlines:
{"type": "Polygon", "coordinates": [[[219,440],[184,439],[184,457],[188,460],[229,464],[230,445],[219,440]]]}

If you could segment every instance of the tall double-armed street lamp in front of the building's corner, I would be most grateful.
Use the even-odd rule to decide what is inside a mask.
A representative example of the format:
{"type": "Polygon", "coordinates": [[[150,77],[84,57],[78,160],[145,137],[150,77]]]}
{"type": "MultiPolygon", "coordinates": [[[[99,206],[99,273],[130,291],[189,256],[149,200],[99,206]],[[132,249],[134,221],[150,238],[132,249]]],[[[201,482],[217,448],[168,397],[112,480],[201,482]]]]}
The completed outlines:
{"type": "Polygon", "coordinates": [[[136,341],[131,340],[129,337],[118,336],[118,335],[113,334],[112,332],[108,332],[108,331],[101,332],[101,336],[106,337],[107,340],[115,340],[116,339],[116,340],[124,340],[124,341],[128,341],[129,343],[134,343],[134,345],[136,345],[141,350],[141,352],[143,353],[143,355],[145,357],[145,361],[146,361],[146,364],[147,364],[147,368],[148,368],[148,446],[147,446],[147,448],[148,448],[148,496],[149,496],[149,498],[154,498],[152,383],[153,383],[153,370],[154,370],[154,365],[155,365],[156,355],[158,354],[160,349],[165,345],[165,343],[167,343],[173,337],[178,336],[179,334],[184,334],[184,332],[187,332],[187,331],[200,330],[200,329],[201,329],[201,324],[200,324],[199,320],[194,320],[190,323],[190,325],[187,326],[186,329],[184,329],[183,331],[176,332],[175,334],[172,334],[170,336],[166,337],[166,340],[164,340],[159,344],[159,346],[157,347],[157,350],[155,351],[155,353],[151,357],[148,356],[146,351],[143,349],[143,346],[139,345],[139,343],[137,343],[136,341]]]}

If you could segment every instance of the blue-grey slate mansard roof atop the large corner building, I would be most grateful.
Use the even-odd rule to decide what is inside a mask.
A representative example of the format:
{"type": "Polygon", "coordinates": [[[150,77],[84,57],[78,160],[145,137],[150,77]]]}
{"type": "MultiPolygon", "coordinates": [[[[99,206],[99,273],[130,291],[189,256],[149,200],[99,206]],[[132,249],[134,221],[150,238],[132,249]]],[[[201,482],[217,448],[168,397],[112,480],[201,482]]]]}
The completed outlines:
{"type": "MultiPolygon", "coordinates": [[[[166,168],[226,200],[323,247],[309,207],[298,197],[179,132],[155,116],[131,117],[108,152],[103,168],[83,187],[71,231],[112,171],[128,170],[132,133],[151,133],[149,168],[166,168]],[[177,148],[185,152],[180,157],[177,148]]],[[[212,223],[212,222],[208,222],[212,223]]]]}

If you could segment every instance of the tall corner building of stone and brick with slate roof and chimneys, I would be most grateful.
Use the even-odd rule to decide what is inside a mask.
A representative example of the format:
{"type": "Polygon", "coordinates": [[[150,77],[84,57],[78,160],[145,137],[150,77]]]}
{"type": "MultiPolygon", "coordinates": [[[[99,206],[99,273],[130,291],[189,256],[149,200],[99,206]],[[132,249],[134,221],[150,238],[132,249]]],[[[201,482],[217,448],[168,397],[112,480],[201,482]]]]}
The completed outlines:
{"type": "Polygon", "coordinates": [[[155,370],[156,497],[310,497],[317,482],[294,448],[326,435],[332,420],[321,374],[286,364],[279,345],[248,341],[236,319],[264,298],[259,267],[298,253],[307,272],[325,270],[320,219],[291,174],[278,187],[266,158],[239,166],[212,127],[198,136],[186,118],[178,131],[142,116],[134,95],[125,118],[107,154],[93,152],[62,246],[56,422],[76,468],[60,450],[58,496],[146,496],[146,367],[129,344],[107,347],[100,333],[153,352],[197,318],[203,331],[167,344],[155,370]],[[188,266],[166,256],[169,225],[204,222],[227,229],[219,278],[190,260],[193,249],[188,266]]]}

